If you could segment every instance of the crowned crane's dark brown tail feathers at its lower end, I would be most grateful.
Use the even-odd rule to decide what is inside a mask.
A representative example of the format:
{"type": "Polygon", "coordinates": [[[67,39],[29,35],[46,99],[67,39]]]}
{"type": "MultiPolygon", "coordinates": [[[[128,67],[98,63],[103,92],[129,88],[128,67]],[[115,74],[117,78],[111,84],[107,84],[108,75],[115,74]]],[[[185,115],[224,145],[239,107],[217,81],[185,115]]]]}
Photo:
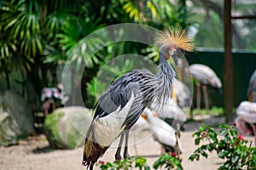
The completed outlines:
{"type": "Polygon", "coordinates": [[[107,149],[108,146],[102,148],[99,144],[96,144],[89,139],[85,139],[82,165],[86,166],[87,169],[90,167],[90,170],[92,170],[95,162],[107,149]]]}

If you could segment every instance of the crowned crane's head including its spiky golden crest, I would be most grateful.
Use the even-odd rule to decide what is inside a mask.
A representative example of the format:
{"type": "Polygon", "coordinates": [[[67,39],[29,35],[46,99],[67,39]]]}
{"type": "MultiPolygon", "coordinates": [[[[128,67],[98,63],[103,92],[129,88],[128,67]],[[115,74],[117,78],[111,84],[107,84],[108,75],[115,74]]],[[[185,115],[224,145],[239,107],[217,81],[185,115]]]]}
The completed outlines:
{"type": "Polygon", "coordinates": [[[186,31],[180,27],[165,28],[160,31],[157,43],[160,44],[160,56],[165,56],[167,60],[172,56],[176,65],[178,55],[182,54],[183,50],[193,51],[194,49],[192,39],[187,37],[186,31]]]}

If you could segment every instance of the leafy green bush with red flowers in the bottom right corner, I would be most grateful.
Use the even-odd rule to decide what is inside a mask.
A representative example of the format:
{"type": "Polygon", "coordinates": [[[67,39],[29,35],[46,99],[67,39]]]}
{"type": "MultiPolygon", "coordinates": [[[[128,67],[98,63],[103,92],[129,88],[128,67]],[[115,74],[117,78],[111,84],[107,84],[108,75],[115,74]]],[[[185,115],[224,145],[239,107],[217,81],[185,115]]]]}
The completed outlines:
{"type": "Polygon", "coordinates": [[[198,161],[200,156],[207,158],[207,151],[216,151],[218,157],[224,159],[224,164],[218,169],[255,169],[256,167],[256,148],[248,145],[247,139],[243,139],[237,133],[236,123],[232,126],[220,125],[219,132],[212,127],[202,124],[197,132],[193,134],[195,144],[201,144],[194,153],[189,156],[190,161],[198,161]]]}

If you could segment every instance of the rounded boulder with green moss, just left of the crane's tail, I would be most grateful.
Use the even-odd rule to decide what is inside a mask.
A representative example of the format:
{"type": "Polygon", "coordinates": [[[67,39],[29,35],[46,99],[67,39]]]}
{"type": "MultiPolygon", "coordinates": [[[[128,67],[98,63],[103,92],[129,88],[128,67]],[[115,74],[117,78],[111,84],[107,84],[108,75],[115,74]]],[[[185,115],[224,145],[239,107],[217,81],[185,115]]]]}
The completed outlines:
{"type": "Polygon", "coordinates": [[[80,106],[56,109],[44,121],[44,133],[53,148],[73,149],[83,144],[91,111],[80,106]]]}

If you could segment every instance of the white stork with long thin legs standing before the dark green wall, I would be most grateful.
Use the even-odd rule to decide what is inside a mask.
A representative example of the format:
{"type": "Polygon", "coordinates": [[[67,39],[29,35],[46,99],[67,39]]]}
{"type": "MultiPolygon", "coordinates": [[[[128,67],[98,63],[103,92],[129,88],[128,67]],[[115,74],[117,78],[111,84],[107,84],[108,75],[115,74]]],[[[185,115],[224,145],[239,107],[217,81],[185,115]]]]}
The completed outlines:
{"type": "Polygon", "coordinates": [[[207,111],[209,110],[209,101],[207,94],[207,86],[218,89],[221,92],[222,83],[217,77],[216,73],[207,65],[194,64],[189,66],[191,76],[196,82],[196,105],[197,109],[201,108],[201,85],[204,93],[205,105],[207,111]]]}

